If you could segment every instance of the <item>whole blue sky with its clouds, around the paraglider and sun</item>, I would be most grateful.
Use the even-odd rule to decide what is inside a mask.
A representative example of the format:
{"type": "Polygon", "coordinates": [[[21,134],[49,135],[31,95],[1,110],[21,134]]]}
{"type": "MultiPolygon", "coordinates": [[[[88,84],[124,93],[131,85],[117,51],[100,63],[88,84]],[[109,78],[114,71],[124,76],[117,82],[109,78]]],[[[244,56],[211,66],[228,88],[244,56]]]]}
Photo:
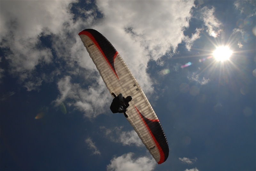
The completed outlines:
{"type": "Polygon", "coordinates": [[[1,170],[255,170],[255,1],[0,1],[1,170]],[[102,33],[154,108],[157,165],[78,36],[102,33]],[[212,55],[219,46],[233,53],[212,55]],[[187,65],[186,65],[187,64],[187,65]]]}

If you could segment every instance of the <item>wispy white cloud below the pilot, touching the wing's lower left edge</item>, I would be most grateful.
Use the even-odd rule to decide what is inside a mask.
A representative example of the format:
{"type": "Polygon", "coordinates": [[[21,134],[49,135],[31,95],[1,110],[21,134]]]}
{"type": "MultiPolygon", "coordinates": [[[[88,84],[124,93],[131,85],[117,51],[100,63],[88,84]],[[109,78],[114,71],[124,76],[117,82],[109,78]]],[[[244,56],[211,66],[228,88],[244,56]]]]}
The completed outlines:
{"type": "Polygon", "coordinates": [[[107,129],[104,126],[100,127],[100,130],[105,133],[106,137],[116,143],[122,143],[123,145],[135,145],[143,146],[138,134],[134,131],[122,131],[123,127],[115,127],[113,129],[107,129]]]}

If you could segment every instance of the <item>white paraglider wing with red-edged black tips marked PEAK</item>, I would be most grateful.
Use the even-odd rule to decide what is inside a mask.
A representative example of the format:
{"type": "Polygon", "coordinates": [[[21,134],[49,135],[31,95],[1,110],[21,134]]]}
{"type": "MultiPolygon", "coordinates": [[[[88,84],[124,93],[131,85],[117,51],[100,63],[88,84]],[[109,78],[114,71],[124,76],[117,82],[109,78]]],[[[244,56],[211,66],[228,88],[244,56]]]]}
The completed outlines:
{"type": "Polygon", "coordinates": [[[112,44],[98,31],[85,29],[79,33],[92,61],[106,84],[109,93],[131,96],[126,119],[140,137],[142,143],[158,164],[169,155],[168,142],[164,130],[143,93],[137,80],[124,63],[112,44]]]}

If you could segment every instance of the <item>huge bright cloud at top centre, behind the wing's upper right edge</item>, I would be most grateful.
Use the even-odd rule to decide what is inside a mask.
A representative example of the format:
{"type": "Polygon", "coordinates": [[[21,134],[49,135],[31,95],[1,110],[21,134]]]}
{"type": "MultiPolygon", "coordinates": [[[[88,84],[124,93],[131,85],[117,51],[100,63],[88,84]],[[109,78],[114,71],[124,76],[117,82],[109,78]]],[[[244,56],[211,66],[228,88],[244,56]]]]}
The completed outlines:
{"type": "Polygon", "coordinates": [[[189,26],[193,1],[97,1],[104,21],[95,28],[124,58],[141,87],[152,91],[150,59],[176,49],[189,26]]]}

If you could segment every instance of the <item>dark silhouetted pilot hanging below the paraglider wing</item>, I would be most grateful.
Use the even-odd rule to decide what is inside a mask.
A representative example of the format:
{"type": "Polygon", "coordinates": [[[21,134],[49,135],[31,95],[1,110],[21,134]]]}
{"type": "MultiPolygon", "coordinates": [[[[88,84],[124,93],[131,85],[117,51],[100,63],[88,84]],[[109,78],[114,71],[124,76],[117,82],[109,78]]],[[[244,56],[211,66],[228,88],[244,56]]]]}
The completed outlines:
{"type": "Polygon", "coordinates": [[[124,98],[122,93],[118,94],[118,96],[116,96],[115,93],[111,94],[114,96],[114,99],[110,105],[110,110],[112,111],[112,113],[124,113],[124,116],[128,117],[125,112],[130,106],[129,102],[132,100],[132,96],[127,96],[126,98],[124,98]]]}

